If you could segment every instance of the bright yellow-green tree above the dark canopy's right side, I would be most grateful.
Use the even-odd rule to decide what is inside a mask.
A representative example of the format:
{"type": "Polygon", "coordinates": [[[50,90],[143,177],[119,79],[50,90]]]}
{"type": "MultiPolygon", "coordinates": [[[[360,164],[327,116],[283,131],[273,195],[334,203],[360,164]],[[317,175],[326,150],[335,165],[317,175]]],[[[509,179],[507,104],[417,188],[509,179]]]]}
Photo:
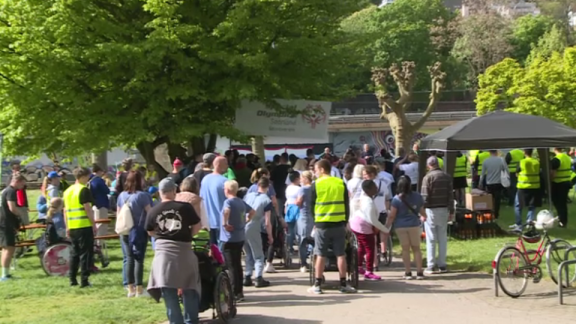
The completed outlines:
{"type": "Polygon", "coordinates": [[[476,98],[478,113],[493,111],[501,104],[506,110],[543,116],[568,126],[576,121],[576,48],[564,54],[537,57],[522,68],[504,60],[480,77],[476,98]]]}

